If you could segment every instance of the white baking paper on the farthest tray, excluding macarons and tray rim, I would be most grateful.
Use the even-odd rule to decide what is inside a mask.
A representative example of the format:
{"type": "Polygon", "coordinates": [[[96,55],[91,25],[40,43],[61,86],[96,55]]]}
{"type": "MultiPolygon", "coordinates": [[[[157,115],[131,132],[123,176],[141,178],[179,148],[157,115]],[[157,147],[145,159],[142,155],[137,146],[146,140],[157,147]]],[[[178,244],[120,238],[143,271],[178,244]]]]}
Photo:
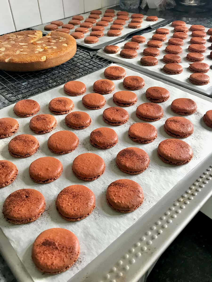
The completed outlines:
{"type": "MultiPolygon", "coordinates": [[[[107,8],[105,8],[105,9],[99,9],[99,10],[102,11],[102,14],[99,15],[100,18],[96,20],[97,22],[98,22],[98,21],[101,21],[101,18],[103,17],[103,15],[104,15],[106,9],[107,9],[107,8]]],[[[115,10],[115,15],[117,14],[117,12],[118,12],[118,10],[115,10]]],[[[129,33],[131,33],[131,32],[137,32],[138,30],[142,30],[142,29],[144,29],[144,28],[151,27],[151,26],[153,26],[153,25],[157,25],[157,24],[159,25],[159,22],[161,22],[161,21],[164,20],[164,19],[162,19],[162,18],[159,18],[158,21],[146,21],[146,17],[147,17],[147,16],[144,16],[144,17],[143,17],[143,22],[141,23],[141,28],[135,28],[135,29],[134,29],[134,28],[129,28],[129,27],[128,27],[128,23],[131,22],[131,15],[132,15],[132,14],[133,14],[133,13],[129,13],[129,20],[126,21],[126,25],[124,25],[123,30],[121,30],[121,32],[122,32],[121,36],[115,36],[115,37],[113,37],[113,36],[112,36],[112,37],[111,37],[111,36],[107,36],[108,30],[110,30],[111,25],[113,25],[113,22],[111,22],[111,23],[109,23],[109,25],[108,25],[107,27],[105,27],[105,30],[104,30],[104,34],[105,34],[105,35],[104,35],[103,37],[99,37],[98,43],[96,43],[96,44],[86,44],[86,43],[84,42],[85,37],[86,37],[86,36],[90,36],[90,32],[92,31],[91,28],[88,29],[88,30],[89,30],[88,33],[85,33],[85,34],[84,34],[84,38],[82,38],[82,39],[76,39],[77,43],[80,43],[80,45],[86,46],[86,47],[88,47],[88,48],[95,47],[95,48],[98,49],[98,46],[101,45],[101,44],[103,44],[103,43],[107,43],[107,44],[105,44],[105,46],[106,46],[106,45],[109,45],[109,44],[110,44],[109,41],[113,41],[114,39],[117,39],[117,41],[119,41],[122,36],[125,36],[125,35],[127,35],[127,34],[129,34],[129,33]]],[[[90,12],[89,12],[89,13],[86,13],[86,14],[81,14],[81,15],[84,17],[84,20],[83,20],[83,21],[85,21],[85,19],[87,19],[88,16],[90,15],[90,12]]],[[[68,22],[70,21],[70,19],[72,19],[72,17],[68,17],[68,18],[66,18],[66,19],[62,19],[62,21],[63,21],[63,23],[68,23],[68,22]]],[[[115,17],[113,18],[113,21],[116,20],[116,19],[117,19],[117,16],[115,16],[115,17]]],[[[81,21],[81,23],[82,23],[83,21],[81,21]]],[[[34,28],[37,29],[37,30],[38,30],[38,29],[39,29],[39,30],[42,30],[42,32],[44,32],[44,33],[48,33],[48,31],[44,30],[44,26],[45,26],[45,25],[47,25],[47,23],[45,23],[44,25],[38,25],[38,26],[36,26],[36,27],[34,27],[34,28]]],[[[95,25],[96,25],[96,24],[94,23],[93,26],[95,26],[95,25]]],[[[77,28],[77,27],[79,27],[79,25],[75,25],[75,26],[74,26],[74,29],[71,29],[71,30],[70,30],[70,33],[74,32],[74,31],[75,31],[75,28],[77,28]]],[[[59,27],[59,29],[60,29],[60,27],[59,27]]],[[[117,42],[117,41],[116,41],[116,42],[117,42]]],[[[99,47],[99,48],[102,48],[102,46],[99,47]]]]}

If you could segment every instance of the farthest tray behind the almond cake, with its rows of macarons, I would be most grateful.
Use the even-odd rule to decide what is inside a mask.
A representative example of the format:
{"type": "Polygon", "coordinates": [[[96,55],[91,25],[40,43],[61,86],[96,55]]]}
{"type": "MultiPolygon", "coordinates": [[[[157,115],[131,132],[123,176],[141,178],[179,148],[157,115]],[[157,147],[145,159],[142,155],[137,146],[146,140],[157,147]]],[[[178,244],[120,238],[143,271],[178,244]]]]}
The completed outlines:
{"type": "Polygon", "coordinates": [[[54,30],[66,32],[76,39],[77,45],[98,50],[106,45],[123,41],[129,34],[138,30],[154,28],[165,22],[165,19],[157,16],[100,9],[33,28],[44,33],[54,30]]]}

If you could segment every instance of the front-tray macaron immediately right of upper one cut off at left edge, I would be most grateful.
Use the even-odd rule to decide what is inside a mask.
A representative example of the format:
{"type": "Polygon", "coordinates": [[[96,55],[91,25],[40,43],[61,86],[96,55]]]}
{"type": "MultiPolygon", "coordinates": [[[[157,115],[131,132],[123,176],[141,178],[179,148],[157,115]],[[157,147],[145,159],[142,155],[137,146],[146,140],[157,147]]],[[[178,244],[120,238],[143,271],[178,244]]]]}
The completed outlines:
{"type": "Polygon", "coordinates": [[[29,128],[37,134],[48,133],[55,129],[56,125],[57,120],[51,114],[38,114],[29,122],[29,128]]]}

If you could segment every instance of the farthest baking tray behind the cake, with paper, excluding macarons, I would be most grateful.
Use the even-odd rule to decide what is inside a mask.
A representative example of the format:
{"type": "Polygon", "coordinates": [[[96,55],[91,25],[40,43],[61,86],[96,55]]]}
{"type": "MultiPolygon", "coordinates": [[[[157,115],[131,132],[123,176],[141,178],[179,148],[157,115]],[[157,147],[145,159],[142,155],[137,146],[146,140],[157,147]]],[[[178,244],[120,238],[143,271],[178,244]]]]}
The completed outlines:
{"type": "MultiPolygon", "coordinates": [[[[101,17],[103,17],[103,14],[105,13],[106,8],[105,9],[99,9],[99,10],[102,11],[102,14],[100,15],[100,19],[97,19],[97,21],[101,20],[101,17]]],[[[118,10],[115,10],[115,15],[116,15],[117,12],[118,12],[118,10]]],[[[85,20],[90,15],[90,12],[89,13],[85,13],[85,14],[81,14],[81,15],[84,17],[84,20],[85,20]]],[[[109,23],[109,25],[107,27],[105,27],[105,30],[104,30],[104,34],[105,35],[103,37],[99,37],[99,42],[98,43],[96,43],[96,44],[86,44],[84,42],[84,38],[86,36],[90,36],[91,28],[89,28],[89,32],[85,34],[84,38],[76,39],[77,45],[82,46],[82,47],[86,47],[86,48],[92,49],[92,50],[99,50],[99,49],[105,47],[106,45],[115,44],[115,43],[118,43],[118,42],[121,42],[121,41],[125,40],[129,34],[133,34],[133,33],[137,32],[138,30],[143,30],[143,29],[148,28],[148,27],[156,28],[157,26],[167,22],[167,20],[162,19],[162,18],[158,18],[158,21],[156,21],[156,22],[155,21],[152,21],[152,22],[151,21],[146,21],[145,19],[146,19],[147,16],[144,16],[143,17],[143,22],[141,23],[141,28],[133,29],[133,28],[127,27],[128,23],[131,22],[131,15],[132,15],[132,13],[129,13],[129,20],[126,21],[126,25],[124,25],[124,29],[122,30],[122,36],[116,36],[116,37],[107,36],[108,30],[110,30],[110,27],[113,24],[113,22],[112,22],[112,23],[109,23]]],[[[113,20],[115,20],[116,18],[117,18],[117,16],[115,16],[113,18],[113,20]]],[[[61,19],[61,21],[63,21],[63,23],[68,23],[70,21],[70,19],[72,19],[72,17],[61,19]]],[[[81,22],[83,22],[83,21],[81,21],[81,22]]],[[[45,24],[42,24],[42,25],[37,25],[37,26],[35,26],[33,28],[37,29],[37,30],[42,30],[42,32],[47,34],[49,32],[44,30],[44,26],[47,25],[47,24],[49,24],[49,23],[45,23],[45,24]]],[[[94,24],[94,26],[95,25],[96,24],[94,24]]],[[[75,26],[75,28],[77,28],[77,27],[79,27],[79,25],[75,26]]],[[[74,32],[75,28],[70,30],[70,33],[74,32]]]]}

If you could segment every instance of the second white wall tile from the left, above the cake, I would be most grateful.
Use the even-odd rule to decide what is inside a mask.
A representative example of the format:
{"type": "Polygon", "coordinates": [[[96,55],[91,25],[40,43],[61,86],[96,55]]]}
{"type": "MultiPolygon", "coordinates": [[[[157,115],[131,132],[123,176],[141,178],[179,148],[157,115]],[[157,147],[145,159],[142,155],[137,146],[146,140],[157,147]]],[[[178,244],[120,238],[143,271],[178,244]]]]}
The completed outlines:
{"type": "Polygon", "coordinates": [[[41,25],[37,0],[9,0],[16,30],[41,25]]]}

